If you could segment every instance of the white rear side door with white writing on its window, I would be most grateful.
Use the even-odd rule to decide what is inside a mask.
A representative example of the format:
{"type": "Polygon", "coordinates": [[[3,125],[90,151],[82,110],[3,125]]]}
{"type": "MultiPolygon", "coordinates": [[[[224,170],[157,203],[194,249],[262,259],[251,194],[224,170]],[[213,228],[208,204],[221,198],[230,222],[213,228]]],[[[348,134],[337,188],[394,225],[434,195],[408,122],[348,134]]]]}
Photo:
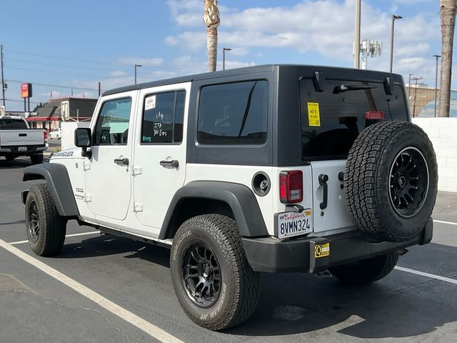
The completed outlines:
{"type": "Polygon", "coordinates": [[[169,204],[186,178],[186,127],[190,84],[142,89],[134,160],[134,208],[144,229],[159,235],[169,204]]]}

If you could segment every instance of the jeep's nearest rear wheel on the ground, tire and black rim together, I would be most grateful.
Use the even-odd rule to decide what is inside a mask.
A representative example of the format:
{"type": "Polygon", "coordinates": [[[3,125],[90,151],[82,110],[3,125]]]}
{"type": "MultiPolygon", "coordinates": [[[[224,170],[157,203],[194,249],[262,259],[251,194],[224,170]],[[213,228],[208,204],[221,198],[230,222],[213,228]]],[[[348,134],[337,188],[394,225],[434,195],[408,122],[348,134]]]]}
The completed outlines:
{"type": "Polygon", "coordinates": [[[249,266],[229,217],[205,214],[184,222],[175,235],[170,267],[179,304],[201,327],[233,327],[256,309],[258,273],[249,266]]]}

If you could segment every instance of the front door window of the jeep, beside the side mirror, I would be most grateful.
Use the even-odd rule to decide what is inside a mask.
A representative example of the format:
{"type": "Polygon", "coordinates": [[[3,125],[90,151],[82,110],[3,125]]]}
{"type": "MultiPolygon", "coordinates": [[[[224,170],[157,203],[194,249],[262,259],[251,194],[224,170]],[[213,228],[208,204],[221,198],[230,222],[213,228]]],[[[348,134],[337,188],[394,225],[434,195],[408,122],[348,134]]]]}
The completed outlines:
{"type": "Polygon", "coordinates": [[[130,112],[131,98],[106,101],[97,119],[94,145],[126,145],[130,112]]]}

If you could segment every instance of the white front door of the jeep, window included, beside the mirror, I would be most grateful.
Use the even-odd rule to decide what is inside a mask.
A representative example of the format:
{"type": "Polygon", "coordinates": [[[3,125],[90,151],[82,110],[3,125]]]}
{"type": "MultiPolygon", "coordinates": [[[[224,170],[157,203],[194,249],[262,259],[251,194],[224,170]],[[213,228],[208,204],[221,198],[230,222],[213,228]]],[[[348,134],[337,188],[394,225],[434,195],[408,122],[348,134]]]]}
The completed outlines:
{"type": "Polygon", "coordinates": [[[86,169],[86,202],[101,222],[126,218],[131,201],[131,141],[136,91],[107,96],[92,128],[86,169]]]}

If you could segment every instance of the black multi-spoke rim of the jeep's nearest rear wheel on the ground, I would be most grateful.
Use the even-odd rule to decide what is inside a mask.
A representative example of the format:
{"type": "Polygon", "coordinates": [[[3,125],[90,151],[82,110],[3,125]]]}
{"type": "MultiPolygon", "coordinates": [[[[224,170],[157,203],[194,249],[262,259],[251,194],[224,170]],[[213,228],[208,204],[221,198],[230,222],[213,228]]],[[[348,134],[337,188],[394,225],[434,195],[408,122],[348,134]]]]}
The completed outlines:
{"type": "Polygon", "coordinates": [[[194,304],[208,308],[217,302],[221,291],[221,269],[208,245],[198,242],[186,250],[182,272],[184,289],[194,304]]]}

